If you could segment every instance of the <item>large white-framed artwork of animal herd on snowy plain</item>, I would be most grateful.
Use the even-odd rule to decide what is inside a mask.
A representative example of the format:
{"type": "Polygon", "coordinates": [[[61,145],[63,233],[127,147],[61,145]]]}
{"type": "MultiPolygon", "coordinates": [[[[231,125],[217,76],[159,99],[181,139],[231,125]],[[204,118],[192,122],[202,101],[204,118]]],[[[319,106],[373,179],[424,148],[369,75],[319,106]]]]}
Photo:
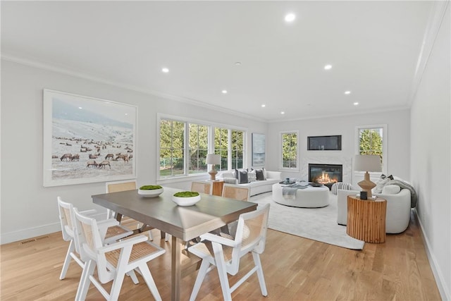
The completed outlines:
{"type": "Polygon", "coordinates": [[[44,187],[136,178],[137,107],[44,89],[44,187]]]}

